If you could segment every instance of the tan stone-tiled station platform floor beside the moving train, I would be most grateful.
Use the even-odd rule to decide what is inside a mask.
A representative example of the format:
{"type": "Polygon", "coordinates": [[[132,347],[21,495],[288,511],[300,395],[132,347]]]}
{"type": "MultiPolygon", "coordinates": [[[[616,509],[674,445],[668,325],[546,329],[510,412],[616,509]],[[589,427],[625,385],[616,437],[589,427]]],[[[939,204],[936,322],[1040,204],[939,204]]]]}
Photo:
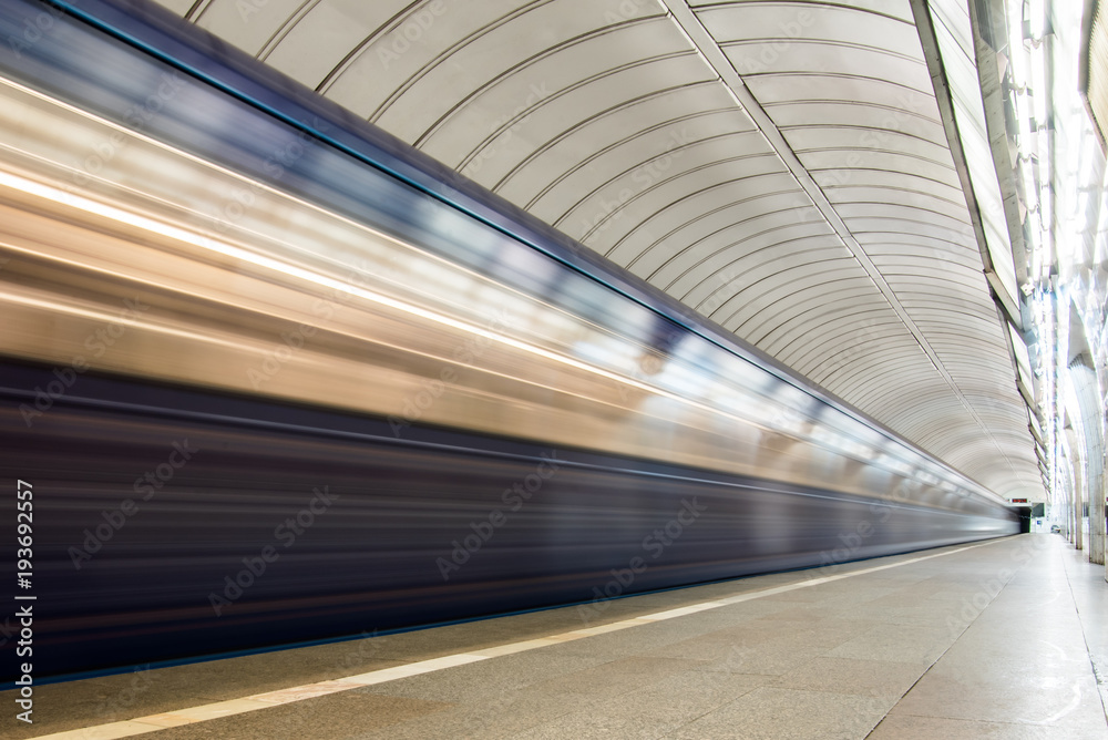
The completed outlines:
{"type": "Polygon", "coordinates": [[[366,631],[43,686],[0,734],[1108,740],[1108,583],[1058,535],[366,631]]]}

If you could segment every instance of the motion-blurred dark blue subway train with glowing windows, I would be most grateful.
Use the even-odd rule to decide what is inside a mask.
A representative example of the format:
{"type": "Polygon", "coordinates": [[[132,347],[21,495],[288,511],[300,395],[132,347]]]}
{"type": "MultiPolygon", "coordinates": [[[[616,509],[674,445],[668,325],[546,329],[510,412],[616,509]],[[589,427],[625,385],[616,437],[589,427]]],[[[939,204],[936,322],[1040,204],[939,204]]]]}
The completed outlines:
{"type": "Polygon", "coordinates": [[[628,594],[1018,530],[161,9],[0,8],[0,553],[34,615],[20,657],[3,615],[9,686],[557,605],[586,625],[628,594]]]}

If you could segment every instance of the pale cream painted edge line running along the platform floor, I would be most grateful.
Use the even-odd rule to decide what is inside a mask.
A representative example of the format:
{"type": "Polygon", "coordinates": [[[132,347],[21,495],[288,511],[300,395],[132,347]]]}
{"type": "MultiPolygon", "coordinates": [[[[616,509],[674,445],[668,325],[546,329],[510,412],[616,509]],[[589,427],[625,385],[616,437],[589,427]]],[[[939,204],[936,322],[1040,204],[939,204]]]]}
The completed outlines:
{"type": "Polygon", "coordinates": [[[408,678],[410,676],[430,674],[437,670],[442,670],[444,668],[464,666],[471,662],[476,662],[479,660],[488,660],[490,658],[500,657],[502,655],[514,655],[516,652],[524,652],[526,650],[534,650],[541,647],[558,645],[570,640],[583,639],[586,637],[594,637],[596,635],[604,635],[607,633],[618,631],[622,629],[630,629],[632,627],[640,627],[643,625],[648,625],[656,621],[665,621],[667,619],[676,619],[678,617],[691,616],[694,614],[699,614],[701,611],[707,611],[709,609],[718,609],[719,607],[722,606],[730,606],[732,604],[740,604],[742,602],[749,602],[756,598],[762,598],[763,596],[774,596],[777,594],[784,594],[790,590],[808,588],[809,586],[819,586],[822,584],[831,583],[833,580],[852,578],[854,576],[861,576],[868,573],[876,573],[878,571],[888,571],[889,568],[899,568],[903,565],[912,565],[913,563],[930,561],[935,557],[944,557],[946,555],[964,553],[967,549],[984,547],[985,545],[992,545],[997,542],[1004,542],[1006,539],[1007,537],[997,537],[995,539],[989,539],[988,542],[977,543],[975,545],[967,545],[965,547],[958,547],[957,549],[952,549],[945,553],[935,553],[933,555],[913,557],[907,561],[901,561],[900,563],[879,565],[872,568],[853,571],[851,573],[841,573],[839,575],[833,575],[833,576],[821,576],[819,578],[810,578],[808,580],[801,580],[794,584],[788,584],[784,586],[773,586],[771,588],[763,588],[762,590],[750,592],[748,594],[738,594],[736,596],[729,596],[727,598],[709,599],[707,602],[700,602],[699,604],[690,604],[688,606],[683,606],[675,609],[666,609],[664,611],[646,614],[638,617],[633,617],[630,619],[623,619],[620,621],[613,621],[606,625],[598,625],[597,627],[575,629],[567,633],[558,633],[555,635],[551,635],[548,637],[532,638],[529,640],[522,640],[520,643],[509,643],[505,645],[500,645],[491,648],[480,648],[472,651],[458,652],[454,655],[442,656],[439,658],[431,658],[429,660],[420,660],[418,662],[411,662],[403,666],[393,666],[391,668],[372,670],[367,674],[347,676],[346,678],[318,681],[316,684],[306,684],[304,686],[295,686],[287,689],[278,689],[276,691],[266,691],[265,693],[255,693],[253,696],[243,697],[240,699],[228,699],[226,701],[217,701],[208,705],[201,705],[198,707],[175,709],[173,711],[162,712],[158,715],[147,715],[146,717],[136,717],[135,719],[123,720],[120,722],[94,724],[92,727],[81,728],[79,730],[65,730],[64,732],[40,734],[40,736],[34,736],[33,738],[29,738],[29,740],[113,740],[114,738],[130,738],[136,734],[156,732],[158,730],[165,730],[171,727],[181,727],[182,724],[195,724],[196,722],[205,722],[212,719],[219,719],[220,717],[232,717],[234,715],[243,715],[248,711],[256,711],[258,709],[268,709],[269,707],[279,707],[281,705],[304,701],[306,699],[315,699],[316,697],[324,697],[330,693],[338,693],[339,691],[349,691],[350,689],[359,689],[366,686],[373,686],[376,684],[384,684],[387,681],[394,681],[401,678],[408,678]]]}

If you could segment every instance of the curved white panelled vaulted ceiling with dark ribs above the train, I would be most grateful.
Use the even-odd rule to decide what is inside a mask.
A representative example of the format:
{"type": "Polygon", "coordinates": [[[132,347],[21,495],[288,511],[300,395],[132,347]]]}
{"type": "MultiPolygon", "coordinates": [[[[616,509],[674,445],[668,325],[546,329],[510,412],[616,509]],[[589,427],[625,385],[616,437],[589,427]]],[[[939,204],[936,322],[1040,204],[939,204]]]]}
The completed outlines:
{"type": "Polygon", "coordinates": [[[162,2],[1042,497],[910,0],[162,2]]]}

